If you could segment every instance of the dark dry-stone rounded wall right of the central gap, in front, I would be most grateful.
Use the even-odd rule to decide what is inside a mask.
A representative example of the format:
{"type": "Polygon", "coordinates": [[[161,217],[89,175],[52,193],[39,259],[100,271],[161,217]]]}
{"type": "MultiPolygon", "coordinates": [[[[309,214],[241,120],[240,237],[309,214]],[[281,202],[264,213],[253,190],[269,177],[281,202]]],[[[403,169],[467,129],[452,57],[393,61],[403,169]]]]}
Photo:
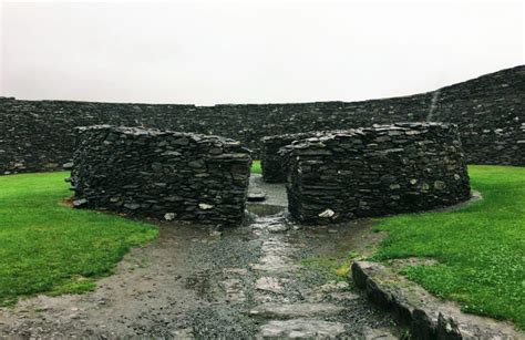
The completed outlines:
{"type": "Polygon", "coordinates": [[[421,212],[470,198],[455,125],[400,123],[327,132],[282,150],[289,212],[301,223],[421,212]]]}

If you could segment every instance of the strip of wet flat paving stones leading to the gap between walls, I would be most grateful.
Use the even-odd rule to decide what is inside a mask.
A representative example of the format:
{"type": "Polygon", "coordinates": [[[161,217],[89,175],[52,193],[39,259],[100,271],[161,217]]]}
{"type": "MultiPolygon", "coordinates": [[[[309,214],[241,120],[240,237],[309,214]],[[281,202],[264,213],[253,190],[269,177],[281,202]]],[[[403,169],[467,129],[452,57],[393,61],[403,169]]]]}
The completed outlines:
{"type": "MultiPolygon", "coordinates": [[[[334,338],[343,334],[347,331],[346,323],[338,320],[338,316],[344,313],[344,307],[337,302],[352,303],[359,299],[357,295],[348,292],[349,285],[341,281],[313,289],[287,289],[300,286],[296,274],[301,266],[297,265],[295,258],[303,245],[292,245],[287,239],[285,233],[290,226],[282,215],[258,218],[251,227],[256,235],[265,238],[259,261],[251,264],[257,278],[254,300],[258,305],[250,309],[249,316],[264,320],[258,336],[334,338]],[[347,293],[340,295],[339,299],[330,296],[341,291],[347,293]]],[[[393,337],[390,331],[388,333],[393,337]]],[[[370,338],[369,329],[362,329],[360,336],[370,338]]]]}

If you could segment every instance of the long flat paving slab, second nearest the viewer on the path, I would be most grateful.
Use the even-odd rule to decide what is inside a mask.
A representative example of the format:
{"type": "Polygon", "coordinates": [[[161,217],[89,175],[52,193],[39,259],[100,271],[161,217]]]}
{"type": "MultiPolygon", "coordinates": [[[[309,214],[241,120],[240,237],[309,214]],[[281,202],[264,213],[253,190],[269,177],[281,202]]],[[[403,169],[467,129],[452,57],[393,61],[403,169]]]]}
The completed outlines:
{"type": "Polygon", "coordinates": [[[339,315],[343,310],[332,303],[262,303],[249,311],[250,316],[265,318],[292,319],[308,317],[328,317],[339,315]]]}

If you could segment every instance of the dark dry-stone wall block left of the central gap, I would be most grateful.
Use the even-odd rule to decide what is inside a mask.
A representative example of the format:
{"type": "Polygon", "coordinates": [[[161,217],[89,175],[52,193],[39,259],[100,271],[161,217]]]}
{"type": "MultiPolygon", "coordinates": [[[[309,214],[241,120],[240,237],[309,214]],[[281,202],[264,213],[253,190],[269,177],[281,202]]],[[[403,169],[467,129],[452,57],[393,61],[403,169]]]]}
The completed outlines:
{"type": "Polygon", "coordinates": [[[239,142],[110,125],[76,132],[75,206],[202,224],[243,220],[251,158],[239,142]]]}

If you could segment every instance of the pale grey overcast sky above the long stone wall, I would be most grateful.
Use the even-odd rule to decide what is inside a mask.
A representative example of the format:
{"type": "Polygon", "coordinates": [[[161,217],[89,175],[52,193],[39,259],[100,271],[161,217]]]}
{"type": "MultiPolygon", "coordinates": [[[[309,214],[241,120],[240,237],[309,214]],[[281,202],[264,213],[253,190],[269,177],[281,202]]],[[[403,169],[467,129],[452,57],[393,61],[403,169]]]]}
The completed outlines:
{"type": "Polygon", "coordinates": [[[521,2],[0,1],[0,95],[18,99],[353,101],[525,55],[521,2]]]}

